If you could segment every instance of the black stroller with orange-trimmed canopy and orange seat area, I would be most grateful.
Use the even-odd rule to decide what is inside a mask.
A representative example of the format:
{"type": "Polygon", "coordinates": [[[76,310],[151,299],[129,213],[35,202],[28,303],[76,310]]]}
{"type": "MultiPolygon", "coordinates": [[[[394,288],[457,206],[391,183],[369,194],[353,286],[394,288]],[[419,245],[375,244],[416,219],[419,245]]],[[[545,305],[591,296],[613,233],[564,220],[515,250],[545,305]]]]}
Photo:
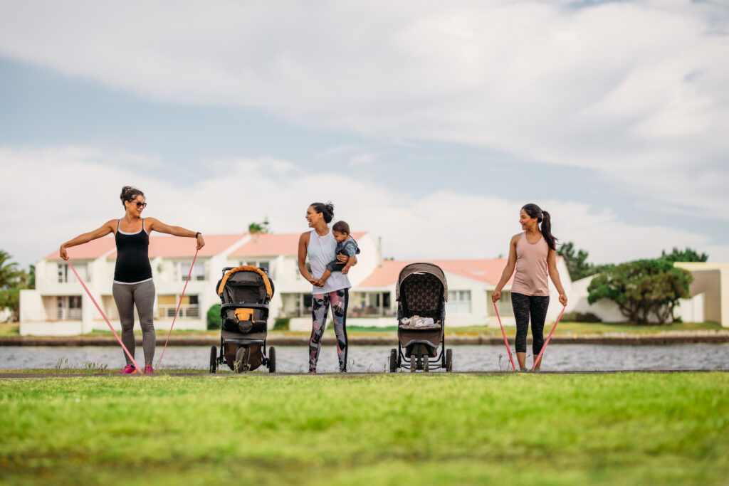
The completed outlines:
{"type": "Polygon", "coordinates": [[[225,363],[234,372],[253,371],[261,365],[276,372],[276,349],[266,356],[268,304],[273,281],[256,267],[226,267],[218,281],[220,296],[220,354],[210,349],[210,372],[225,363]]]}

